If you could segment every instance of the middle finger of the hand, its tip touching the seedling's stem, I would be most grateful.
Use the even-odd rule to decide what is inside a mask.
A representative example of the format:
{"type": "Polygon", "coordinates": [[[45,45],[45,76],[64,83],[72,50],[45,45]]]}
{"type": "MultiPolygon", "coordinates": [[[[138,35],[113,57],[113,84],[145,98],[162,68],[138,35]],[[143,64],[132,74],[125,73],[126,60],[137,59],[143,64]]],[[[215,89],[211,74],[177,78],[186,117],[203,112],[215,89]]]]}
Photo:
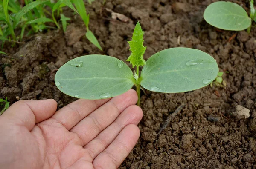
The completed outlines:
{"type": "Polygon", "coordinates": [[[99,109],[81,120],[70,132],[76,133],[81,140],[81,146],[84,146],[108,127],[124,109],[135,104],[137,99],[137,94],[133,89],[113,97],[99,109]]]}

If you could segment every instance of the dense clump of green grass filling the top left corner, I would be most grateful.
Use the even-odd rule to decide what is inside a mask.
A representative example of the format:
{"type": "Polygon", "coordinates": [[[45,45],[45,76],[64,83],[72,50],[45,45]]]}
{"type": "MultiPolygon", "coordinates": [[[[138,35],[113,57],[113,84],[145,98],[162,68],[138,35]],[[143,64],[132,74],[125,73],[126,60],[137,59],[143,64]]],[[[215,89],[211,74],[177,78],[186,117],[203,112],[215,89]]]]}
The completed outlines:
{"type": "MultiPolygon", "coordinates": [[[[53,20],[46,18],[44,14],[44,3],[49,0],[24,0],[26,6],[20,8],[15,0],[3,0],[0,2],[0,40],[18,40],[14,30],[21,27],[20,40],[22,40],[25,29],[31,26],[33,32],[41,31],[48,28],[44,25],[46,22],[53,20]]],[[[31,29],[28,28],[28,29],[31,29]]],[[[31,31],[29,31],[31,32],[31,31]]]]}

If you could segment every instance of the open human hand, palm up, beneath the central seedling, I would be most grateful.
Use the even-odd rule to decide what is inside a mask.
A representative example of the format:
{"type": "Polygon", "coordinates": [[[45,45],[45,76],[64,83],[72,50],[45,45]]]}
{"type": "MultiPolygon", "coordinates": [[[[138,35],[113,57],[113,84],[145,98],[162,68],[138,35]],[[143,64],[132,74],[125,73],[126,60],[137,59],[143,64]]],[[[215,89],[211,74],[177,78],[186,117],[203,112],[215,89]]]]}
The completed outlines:
{"type": "Polygon", "coordinates": [[[131,89],[111,99],[22,100],[0,116],[1,169],[116,169],[136,144],[143,112],[131,89]]]}

